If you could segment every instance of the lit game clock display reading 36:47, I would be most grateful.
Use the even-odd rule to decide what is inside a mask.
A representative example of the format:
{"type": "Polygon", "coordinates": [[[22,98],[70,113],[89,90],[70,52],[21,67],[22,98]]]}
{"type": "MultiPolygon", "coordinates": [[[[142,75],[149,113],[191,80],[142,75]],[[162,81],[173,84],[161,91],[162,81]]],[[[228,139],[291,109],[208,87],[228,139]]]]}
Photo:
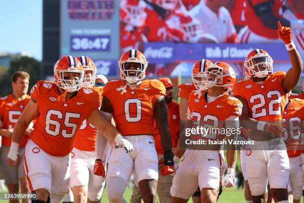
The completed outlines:
{"type": "Polygon", "coordinates": [[[71,36],[71,51],[109,51],[110,36],[71,36]]]}

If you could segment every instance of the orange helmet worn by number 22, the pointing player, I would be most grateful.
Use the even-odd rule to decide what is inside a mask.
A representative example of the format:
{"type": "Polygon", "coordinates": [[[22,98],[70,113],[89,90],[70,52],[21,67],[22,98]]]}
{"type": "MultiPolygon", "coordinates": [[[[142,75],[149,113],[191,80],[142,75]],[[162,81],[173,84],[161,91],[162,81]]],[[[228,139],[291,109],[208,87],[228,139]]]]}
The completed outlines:
{"type": "Polygon", "coordinates": [[[254,49],[244,63],[249,78],[265,78],[273,72],[273,60],[263,49],[254,49]]]}

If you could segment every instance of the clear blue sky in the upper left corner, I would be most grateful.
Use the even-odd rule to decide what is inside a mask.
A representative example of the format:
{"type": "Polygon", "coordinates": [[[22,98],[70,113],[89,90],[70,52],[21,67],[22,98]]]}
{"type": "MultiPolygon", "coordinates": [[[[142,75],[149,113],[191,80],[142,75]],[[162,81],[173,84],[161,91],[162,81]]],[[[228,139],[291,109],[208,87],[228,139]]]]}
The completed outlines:
{"type": "Polygon", "coordinates": [[[0,12],[0,52],[42,59],[42,0],[5,0],[0,12]]]}

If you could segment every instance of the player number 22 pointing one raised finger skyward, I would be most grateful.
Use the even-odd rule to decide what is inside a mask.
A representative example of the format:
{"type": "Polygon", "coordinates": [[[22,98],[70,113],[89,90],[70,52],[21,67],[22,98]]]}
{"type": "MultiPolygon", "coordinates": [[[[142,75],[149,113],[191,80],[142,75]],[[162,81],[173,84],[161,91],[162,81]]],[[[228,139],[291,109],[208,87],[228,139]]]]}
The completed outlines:
{"type": "Polygon", "coordinates": [[[283,128],[279,121],[282,120],[286,93],[297,85],[303,63],[292,41],[290,28],[282,27],[280,22],[278,28],[278,35],[286,45],[292,68],[286,74],[273,73],[272,58],[264,50],[255,49],[247,55],[244,63],[250,79],[239,81],[233,88],[234,96],[243,103],[241,125],[252,129],[249,132],[249,139],[256,140],[251,148],[247,148],[246,156],[246,170],[253,203],[261,201],[266,193],[268,179],[274,200],[280,203],[288,202],[286,187],[289,163],[287,152],[279,150],[285,145],[280,138],[283,128]],[[276,145],[277,148],[269,146],[269,150],[264,151],[264,142],[259,141],[265,140],[274,140],[279,144],[276,145]]]}

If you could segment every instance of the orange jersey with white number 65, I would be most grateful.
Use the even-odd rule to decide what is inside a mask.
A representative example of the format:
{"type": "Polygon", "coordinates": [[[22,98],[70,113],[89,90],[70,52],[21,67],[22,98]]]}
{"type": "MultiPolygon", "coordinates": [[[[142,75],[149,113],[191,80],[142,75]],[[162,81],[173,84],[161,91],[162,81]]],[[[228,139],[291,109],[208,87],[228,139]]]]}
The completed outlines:
{"type": "Polygon", "coordinates": [[[72,151],[82,121],[99,107],[99,95],[90,88],[78,90],[66,102],[57,101],[59,96],[53,82],[38,81],[31,90],[39,115],[30,139],[52,156],[65,156],[72,151]]]}

